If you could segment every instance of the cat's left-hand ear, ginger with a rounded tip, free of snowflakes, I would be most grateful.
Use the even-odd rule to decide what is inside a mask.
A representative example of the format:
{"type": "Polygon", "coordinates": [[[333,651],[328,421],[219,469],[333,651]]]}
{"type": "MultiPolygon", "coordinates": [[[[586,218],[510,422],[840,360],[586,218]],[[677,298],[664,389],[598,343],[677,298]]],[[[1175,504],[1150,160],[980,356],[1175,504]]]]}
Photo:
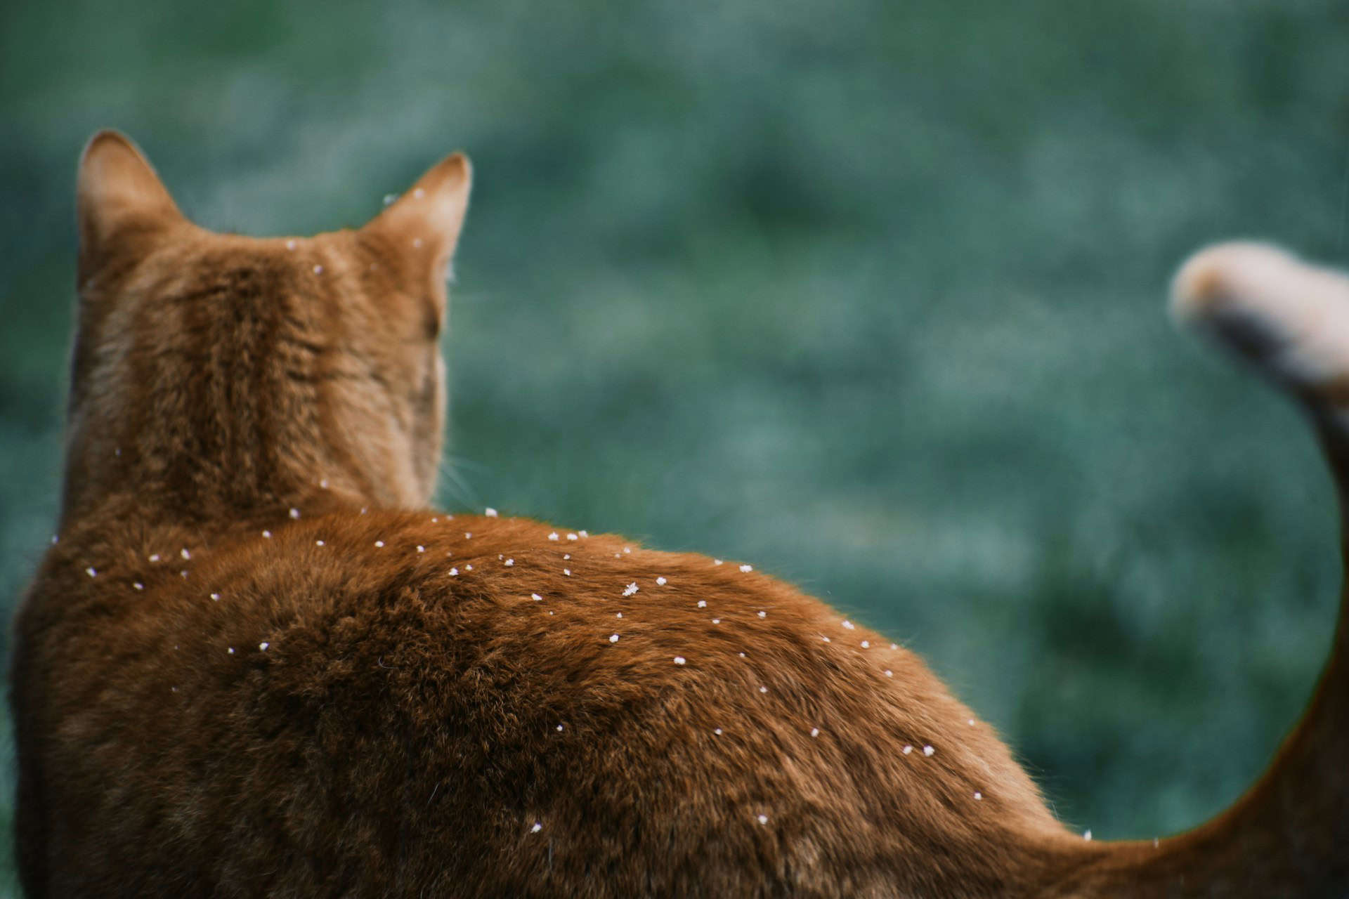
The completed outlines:
{"type": "Polygon", "coordinates": [[[185,221],[150,162],[116,131],[100,131],[85,146],[76,181],[76,210],[80,283],[119,249],[185,221]]]}

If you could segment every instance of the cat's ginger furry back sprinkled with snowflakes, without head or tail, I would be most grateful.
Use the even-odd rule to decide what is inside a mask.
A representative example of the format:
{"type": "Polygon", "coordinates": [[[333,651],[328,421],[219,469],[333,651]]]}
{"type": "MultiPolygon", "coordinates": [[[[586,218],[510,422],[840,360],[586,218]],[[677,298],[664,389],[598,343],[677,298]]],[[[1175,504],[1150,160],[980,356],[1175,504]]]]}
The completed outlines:
{"type": "Polygon", "coordinates": [[[224,841],[196,876],[243,894],[865,894],[1055,828],[912,654],[747,565],[430,511],[183,536],[63,566],[90,873],[224,841]]]}

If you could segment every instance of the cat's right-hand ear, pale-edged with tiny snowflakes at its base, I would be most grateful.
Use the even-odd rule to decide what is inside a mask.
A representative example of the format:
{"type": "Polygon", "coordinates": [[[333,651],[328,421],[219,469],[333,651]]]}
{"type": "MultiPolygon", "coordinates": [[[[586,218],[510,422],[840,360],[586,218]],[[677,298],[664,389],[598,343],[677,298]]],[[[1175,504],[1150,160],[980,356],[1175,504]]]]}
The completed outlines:
{"type": "Polygon", "coordinates": [[[434,278],[444,279],[464,226],[472,183],[468,156],[461,152],[445,156],[362,232],[378,235],[402,257],[426,266],[434,278]]]}

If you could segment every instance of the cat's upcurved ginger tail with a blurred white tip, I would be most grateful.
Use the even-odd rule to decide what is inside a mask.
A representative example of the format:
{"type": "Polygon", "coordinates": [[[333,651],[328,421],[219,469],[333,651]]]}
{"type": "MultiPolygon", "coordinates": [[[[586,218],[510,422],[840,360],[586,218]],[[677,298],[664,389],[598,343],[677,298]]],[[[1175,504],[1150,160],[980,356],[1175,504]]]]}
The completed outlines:
{"type": "MultiPolygon", "coordinates": [[[[1172,311],[1307,410],[1349,534],[1349,276],[1265,244],[1219,244],[1180,268],[1172,311]]],[[[1101,846],[1062,895],[1349,896],[1346,608],[1342,592],[1315,695],[1264,776],[1190,833],[1101,846]]]]}

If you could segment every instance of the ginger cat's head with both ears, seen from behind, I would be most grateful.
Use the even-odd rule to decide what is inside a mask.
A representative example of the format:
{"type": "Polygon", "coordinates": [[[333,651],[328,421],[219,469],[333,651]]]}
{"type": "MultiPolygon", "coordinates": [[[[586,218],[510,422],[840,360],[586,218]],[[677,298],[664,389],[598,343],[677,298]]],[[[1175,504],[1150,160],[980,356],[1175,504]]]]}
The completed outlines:
{"type": "Polygon", "coordinates": [[[188,221],[130,140],[96,135],[77,187],[63,514],[117,489],[250,507],[318,484],[425,504],[469,182],[455,154],[360,229],[244,237],[188,221]]]}

